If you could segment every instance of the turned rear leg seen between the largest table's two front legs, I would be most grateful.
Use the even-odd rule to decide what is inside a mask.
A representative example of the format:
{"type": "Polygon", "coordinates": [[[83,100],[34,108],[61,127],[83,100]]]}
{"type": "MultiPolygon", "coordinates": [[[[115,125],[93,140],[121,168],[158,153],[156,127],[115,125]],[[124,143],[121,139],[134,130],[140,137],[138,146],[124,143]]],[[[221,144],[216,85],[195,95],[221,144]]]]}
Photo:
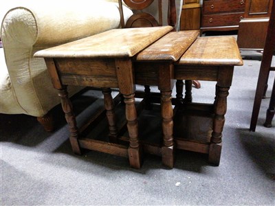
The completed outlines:
{"type": "Polygon", "coordinates": [[[118,129],[115,121],[115,104],[111,96],[110,88],[103,88],[102,93],[104,95],[104,106],[106,109],[107,121],[109,124],[109,141],[118,142],[118,129]]]}

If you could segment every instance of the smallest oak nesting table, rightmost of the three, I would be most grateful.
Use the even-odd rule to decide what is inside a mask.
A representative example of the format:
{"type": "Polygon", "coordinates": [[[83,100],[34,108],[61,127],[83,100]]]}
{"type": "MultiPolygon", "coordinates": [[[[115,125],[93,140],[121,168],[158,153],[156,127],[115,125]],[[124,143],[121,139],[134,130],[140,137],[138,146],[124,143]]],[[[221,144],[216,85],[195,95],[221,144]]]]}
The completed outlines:
{"type": "Polygon", "coordinates": [[[219,165],[228,91],[234,66],[241,65],[239,47],[232,36],[197,38],[175,63],[175,79],[217,82],[213,104],[192,102],[189,87],[189,98],[175,106],[177,148],[206,153],[210,163],[219,165]]]}

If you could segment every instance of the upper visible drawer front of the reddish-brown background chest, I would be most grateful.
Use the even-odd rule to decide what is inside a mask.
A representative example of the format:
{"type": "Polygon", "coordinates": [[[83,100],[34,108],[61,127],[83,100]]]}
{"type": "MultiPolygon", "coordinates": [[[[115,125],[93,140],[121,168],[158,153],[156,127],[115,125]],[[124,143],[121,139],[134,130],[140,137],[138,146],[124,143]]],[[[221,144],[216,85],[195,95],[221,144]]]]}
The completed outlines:
{"type": "Polygon", "coordinates": [[[245,0],[203,1],[203,14],[221,14],[224,12],[245,12],[245,0]]]}

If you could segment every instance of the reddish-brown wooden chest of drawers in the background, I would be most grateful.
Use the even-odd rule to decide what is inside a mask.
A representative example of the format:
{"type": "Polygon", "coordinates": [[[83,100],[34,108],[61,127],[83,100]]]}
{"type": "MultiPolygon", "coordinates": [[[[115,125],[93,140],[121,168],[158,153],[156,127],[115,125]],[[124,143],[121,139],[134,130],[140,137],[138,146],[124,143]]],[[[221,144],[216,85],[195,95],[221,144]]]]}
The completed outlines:
{"type": "Polygon", "coordinates": [[[201,34],[206,31],[238,30],[244,12],[245,0],[204,0],[201,34]]]}

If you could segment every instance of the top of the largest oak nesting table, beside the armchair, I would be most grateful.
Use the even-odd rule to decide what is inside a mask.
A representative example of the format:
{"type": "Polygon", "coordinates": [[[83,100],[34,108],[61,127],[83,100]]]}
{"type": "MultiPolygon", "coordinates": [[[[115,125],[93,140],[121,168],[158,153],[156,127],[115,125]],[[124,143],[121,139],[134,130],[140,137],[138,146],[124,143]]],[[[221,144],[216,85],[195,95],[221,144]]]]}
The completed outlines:
{"type": "Polygon", "coordinates": [[[43,58],[129,58],[173,30],[173,27],[115,29],[34,54],[43,58]]]}

